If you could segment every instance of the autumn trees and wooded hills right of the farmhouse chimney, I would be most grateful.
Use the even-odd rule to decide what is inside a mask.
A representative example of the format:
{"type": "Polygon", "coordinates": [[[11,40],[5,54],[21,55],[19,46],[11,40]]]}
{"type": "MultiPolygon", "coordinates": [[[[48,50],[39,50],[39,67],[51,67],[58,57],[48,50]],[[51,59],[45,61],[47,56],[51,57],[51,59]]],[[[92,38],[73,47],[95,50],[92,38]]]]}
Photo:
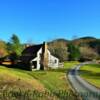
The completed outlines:
{"type": "Polygon", "coordinates": [[[72,41],[57,39],[49,44],[49,50],[60,61],[92,61],[100,59],[100,40],[84,37],[72,41]]]}

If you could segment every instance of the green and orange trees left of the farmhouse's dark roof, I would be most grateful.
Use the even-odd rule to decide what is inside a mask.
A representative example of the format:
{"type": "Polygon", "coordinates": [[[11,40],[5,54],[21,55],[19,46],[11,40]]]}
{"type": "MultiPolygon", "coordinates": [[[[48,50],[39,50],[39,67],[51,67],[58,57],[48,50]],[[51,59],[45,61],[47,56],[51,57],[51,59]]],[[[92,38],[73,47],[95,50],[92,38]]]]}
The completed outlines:
{"type": "Polygon", "coordinates": [[[0,58],[9,56],[13,61],[21,55],[24,46],[21,44],[19,37],[15,34],[13,34],[9,40],[8,42],[0,41],[0,58]]]}

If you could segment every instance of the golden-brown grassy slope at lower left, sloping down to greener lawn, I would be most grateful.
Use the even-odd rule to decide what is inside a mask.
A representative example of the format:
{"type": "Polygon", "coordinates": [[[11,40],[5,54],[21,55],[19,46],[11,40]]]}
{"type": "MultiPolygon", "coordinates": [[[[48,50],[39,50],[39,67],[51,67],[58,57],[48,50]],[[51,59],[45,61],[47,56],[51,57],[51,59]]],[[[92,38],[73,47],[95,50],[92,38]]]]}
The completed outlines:
{"type": "Polygon", "coordinates": [[[24,70],[0,66],[0,88],[7,89],[17,87],[24,90],[44,90],[44,86],[40,84],[37,80],[35,80],[33,77],[28,75],[24,70]]]}

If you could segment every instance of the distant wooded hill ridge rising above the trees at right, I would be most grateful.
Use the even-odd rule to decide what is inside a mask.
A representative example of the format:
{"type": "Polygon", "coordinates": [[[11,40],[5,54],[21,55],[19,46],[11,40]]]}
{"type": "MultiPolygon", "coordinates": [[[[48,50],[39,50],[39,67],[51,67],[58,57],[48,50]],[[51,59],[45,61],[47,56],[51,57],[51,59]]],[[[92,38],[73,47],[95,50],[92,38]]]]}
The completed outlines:
{"type": "Polygon", "coordinates": [[[51,42],[49,42],[48,44],[51,46],[52,44],[63,44],[63,46],[67,46],[68,43],[73,43],[75,45],[78,46],[87,46],[90,47],[94,50],[96,50],[96,52],[100,53],[100,39],[97,39],[95,37],[81,37],[81,38],[77,38],[75,40],[66,40],[66,39],[56,39],[53,40],[51,42]]]}

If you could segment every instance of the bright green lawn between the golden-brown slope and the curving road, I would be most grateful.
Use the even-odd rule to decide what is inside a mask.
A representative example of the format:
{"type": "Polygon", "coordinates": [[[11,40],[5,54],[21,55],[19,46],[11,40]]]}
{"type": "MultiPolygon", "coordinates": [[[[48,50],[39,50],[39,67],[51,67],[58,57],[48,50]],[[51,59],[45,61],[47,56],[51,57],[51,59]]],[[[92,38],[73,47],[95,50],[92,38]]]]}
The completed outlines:
{"type": "Polygon", "coordinates": [[[68,89],[68,86],[66,85],[66,72],[68,72],[68,70],[76,64],[78,64],[78,62],[66,62],[64,63],[64,68],[52,69],[49,71],[33,71],[27,73],[43,83],[49,90],[65,90],[68,89]]]}

